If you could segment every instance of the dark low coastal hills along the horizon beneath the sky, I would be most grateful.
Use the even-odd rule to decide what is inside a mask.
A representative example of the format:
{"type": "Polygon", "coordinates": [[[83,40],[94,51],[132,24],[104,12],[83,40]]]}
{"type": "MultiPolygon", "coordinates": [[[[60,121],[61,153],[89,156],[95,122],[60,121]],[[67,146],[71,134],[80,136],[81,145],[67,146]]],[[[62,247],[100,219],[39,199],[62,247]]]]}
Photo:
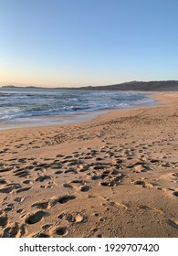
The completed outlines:
{"type": "MultiPolygon", "coordinates": [[[[5,85],[2,88],[19,88],[14,85],[5,85]]],[[[22,87],[20,87],[22,88],[22,87]]],[[[31,89],[45,89],[44,87],[26,86],[31,89]]],[[[47,89],[47,88],[46,88],[47,89]]],[[[160,80],[160,81],[130,81],[119,84],[103,86],[86,86],[72,88],[54,88],[54,89],[72,89],[72,90],[107,90],[107,91],[178,91],[178,80],[160,80]]]]}

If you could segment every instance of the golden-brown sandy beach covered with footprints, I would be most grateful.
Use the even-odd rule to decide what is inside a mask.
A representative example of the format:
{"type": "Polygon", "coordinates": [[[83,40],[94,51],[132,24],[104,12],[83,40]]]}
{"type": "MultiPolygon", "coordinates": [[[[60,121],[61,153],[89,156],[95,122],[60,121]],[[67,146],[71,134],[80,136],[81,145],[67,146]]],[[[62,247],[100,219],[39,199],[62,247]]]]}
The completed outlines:
{"type": "Polygon", "coordinates": [[[89,122],[0,131],[0,236],[178,237],[178,93],[89,122]]]}

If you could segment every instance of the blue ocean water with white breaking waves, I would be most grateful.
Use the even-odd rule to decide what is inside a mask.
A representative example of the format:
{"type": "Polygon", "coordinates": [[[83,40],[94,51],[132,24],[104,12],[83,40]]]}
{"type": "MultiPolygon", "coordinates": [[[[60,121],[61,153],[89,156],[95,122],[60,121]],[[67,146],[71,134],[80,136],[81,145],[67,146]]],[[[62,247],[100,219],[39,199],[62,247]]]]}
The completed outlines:
{"type": "Polygon", "coordinates": [[[138,91],[0,88],[0,123],[47,123],[47,117],[52,120],[57,115],[62,117],[58,123],[65,123],[65,119],[70,123],[76,115],[154,104],[148,96],[149,93],[138,91]]]}

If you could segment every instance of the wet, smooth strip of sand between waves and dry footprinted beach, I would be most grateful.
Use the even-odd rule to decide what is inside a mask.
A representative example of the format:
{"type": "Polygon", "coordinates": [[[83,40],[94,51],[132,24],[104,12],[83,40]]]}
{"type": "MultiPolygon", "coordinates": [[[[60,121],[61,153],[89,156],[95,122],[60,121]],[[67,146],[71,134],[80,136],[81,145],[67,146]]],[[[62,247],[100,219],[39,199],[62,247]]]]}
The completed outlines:
{"type": "MultiPolygon", "coordinates": [[[[79,124],[79,123],[86,123],[91,122],[92,120],[96,120],[99,116],[110,114],[110,112],[124,112],[126,110],[132,109],[140,109],[140,108],[149,108],[149,107],[156,107],[167,103],[166,100],[162,95],[172,95],[172,91],[151,91],[148,98],[154,99],[151,103],[147,104],[135,104],[125,107],[123,109],[103,109],[98,111],[92,112],[81,112],[81,113],[68,113],[68,114],[58,114],[58,115],[48,115],[48,116],[35,116],[30,118],[21,118],[12,121],[3,121],[0,122],[0,131],[5,130],[14,130],[14,129],[28,129],[28,128],[45,128],[45,127],[52,127],[58,125],[68,125],[68,124],[79,124]],[[42,120],[43,123],[41,123],[42,120]]],[[[177,92],[178,93],[178,92],[177,92]]],[[[174,93],[176,94],[176,92],[174,93]]],[[[168,101],[170,102],[170,101],[168,101]]]]}

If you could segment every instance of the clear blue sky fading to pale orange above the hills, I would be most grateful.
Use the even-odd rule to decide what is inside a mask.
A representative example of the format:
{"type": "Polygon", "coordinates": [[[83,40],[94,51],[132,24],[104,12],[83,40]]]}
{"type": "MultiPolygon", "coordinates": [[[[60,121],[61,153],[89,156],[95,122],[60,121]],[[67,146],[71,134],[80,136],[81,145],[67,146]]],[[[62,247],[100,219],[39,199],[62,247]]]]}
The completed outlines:
{"type": "Polygon", "coordinates": [[[0,0],[0,86],[178,80],[177,0],[0,0]]]}

